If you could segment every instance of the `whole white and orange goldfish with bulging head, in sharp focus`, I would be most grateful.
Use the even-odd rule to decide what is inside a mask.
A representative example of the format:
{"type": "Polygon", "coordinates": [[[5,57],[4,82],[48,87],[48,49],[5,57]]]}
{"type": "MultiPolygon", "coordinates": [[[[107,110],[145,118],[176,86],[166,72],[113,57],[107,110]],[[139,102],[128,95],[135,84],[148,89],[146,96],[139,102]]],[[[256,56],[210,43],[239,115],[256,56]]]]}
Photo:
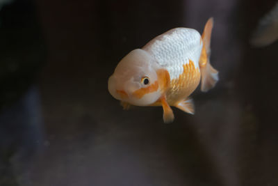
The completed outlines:
{"type": "Polygon", "coordinates": [[[108,91],[124,109],[131,105],[162,106],[164,123],[174,121],[171,107],[195,113],[189,96],[201,82],[206,92],[218,82],[210,63],[213,17],[202,36],[195,29],[175,28],[133,49],[117,64],[108,79],[108,91]]]}

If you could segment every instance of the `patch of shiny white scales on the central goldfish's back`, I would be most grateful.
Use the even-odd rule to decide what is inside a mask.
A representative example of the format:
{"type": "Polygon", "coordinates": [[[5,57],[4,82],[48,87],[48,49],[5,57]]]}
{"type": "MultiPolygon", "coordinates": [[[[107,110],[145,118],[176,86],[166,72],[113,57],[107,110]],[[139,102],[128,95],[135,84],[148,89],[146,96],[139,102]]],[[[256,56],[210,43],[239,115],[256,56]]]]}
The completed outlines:
{"type": "Polygon", "coordinates": [[[145,47],[156,62],[165,68],[170,79],[177,79],[183,72],[183,65],[193,61],[199,68],[199,56],[202,51],[201,36],[198,31],[177,28],[163,33],[151,40],[145,47]]]}

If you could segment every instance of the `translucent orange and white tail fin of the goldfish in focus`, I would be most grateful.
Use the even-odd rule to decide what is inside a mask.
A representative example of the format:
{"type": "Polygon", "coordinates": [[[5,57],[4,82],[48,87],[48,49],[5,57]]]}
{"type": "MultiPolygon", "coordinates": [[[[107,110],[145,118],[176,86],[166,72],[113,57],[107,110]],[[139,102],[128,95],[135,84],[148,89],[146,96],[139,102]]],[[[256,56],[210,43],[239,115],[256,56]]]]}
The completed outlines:
{"type": "Polygon", "coordinates": [[[213,17],[208,19],[206,26],[204,26],[204,32],[202,34],[203,48],[199,61],[201,70],[201,91],[206,92],[215,86],[218,82],[218,71],[215,70],[209,61],[211,56],[211,30],[213,29],[213,17]]]}

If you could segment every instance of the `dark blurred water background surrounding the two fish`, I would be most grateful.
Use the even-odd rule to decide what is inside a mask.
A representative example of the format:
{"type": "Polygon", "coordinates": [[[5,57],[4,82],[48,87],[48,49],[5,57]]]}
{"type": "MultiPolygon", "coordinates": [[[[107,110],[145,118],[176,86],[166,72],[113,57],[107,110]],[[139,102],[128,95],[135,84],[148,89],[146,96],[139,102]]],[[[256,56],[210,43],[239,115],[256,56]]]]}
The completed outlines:
{"type": "Polygon", "coordinates": [[[278,185],[278,42],[250,45],[275,3],[1,0],[0,185],[278,185]],[[220,82],[195,115],[123,111],[107,90],[120,59],[208,17],[220,82]]]}

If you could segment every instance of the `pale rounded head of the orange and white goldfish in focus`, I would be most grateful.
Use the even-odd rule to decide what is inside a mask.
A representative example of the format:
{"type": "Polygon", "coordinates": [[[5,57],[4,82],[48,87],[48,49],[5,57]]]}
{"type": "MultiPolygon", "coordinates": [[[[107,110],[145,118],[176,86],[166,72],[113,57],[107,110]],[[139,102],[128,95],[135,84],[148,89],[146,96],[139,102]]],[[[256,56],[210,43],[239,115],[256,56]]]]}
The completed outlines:
{"type": "Polygon", "coordinates": [[[108,91],[123,102],[137,106],[153,104],[161,97],[156,63],[142,49],[127,54],[108,79],[108,91]]]}

